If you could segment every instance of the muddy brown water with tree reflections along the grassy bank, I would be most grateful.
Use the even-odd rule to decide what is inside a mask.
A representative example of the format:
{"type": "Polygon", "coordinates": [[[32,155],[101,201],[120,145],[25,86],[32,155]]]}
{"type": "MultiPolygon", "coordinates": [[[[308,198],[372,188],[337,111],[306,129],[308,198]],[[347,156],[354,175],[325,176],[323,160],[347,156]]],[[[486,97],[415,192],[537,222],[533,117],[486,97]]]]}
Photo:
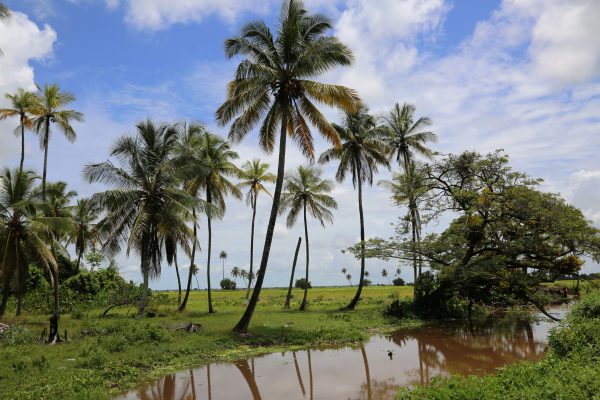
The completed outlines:
{"type": "Polygon", "coordinates": [[[402,385],[427,385],[433,377],[452,374],[484,375],[539,359],[553,325],[488,320],[400,330],[355,347],[213,363],[165,375],[119,399],[393,399],[402,385]]]}

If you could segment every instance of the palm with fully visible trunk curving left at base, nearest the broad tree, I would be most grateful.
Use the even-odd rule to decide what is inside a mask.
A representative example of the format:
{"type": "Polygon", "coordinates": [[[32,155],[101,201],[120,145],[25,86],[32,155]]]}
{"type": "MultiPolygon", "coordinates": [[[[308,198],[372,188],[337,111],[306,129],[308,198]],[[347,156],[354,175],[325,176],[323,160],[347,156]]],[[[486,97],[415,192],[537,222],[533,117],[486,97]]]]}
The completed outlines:
{"type": "Polygon", "coordinates": [[[339,165],[335,174],[338,182],[343,182],[348,174],[352,175],[352,185],[358,188],[358,215],[360,220],[360,279],[356,294],[346,306],[354,310],[363,288],[365,276],[365,220],[362,204],[362,185],[373,184],[373,174],[379,165],[389,168],[389,148],[384,141],[384,129],[377,125],[374,117],[363,108],[354,114],[346,114],[342,125],[334,125],[342,139],[341,147],[326,150],[319,157],[319,162],[327,163],[338,160],[339,165]]]}

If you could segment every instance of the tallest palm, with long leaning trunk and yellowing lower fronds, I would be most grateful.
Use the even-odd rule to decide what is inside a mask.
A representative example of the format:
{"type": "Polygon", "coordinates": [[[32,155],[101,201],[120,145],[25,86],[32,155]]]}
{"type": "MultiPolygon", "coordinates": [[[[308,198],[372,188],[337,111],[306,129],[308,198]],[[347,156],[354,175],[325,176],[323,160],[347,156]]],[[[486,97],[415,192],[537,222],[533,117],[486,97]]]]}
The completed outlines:
{"type": "Polygon", "coordinates": [[[240,35],[225,41],[227,57],[245,57],[229,83],[227,100],[217,110],[217,120],[225,125],[234,120],[230,139],[241,141],[260,121],[259,145],[273,152],[279,128],[279,156],[273,204],[256,283],[248,307],[235,326],[246,332],[262,288],[285,173],[286,140],[289,134],[308,158],[314,157],[309,123],[333,144],[337,132],[318,110],[314,101],[355,111],[359,106],[356,92],[343,86],[311,80],[338,66],[352,62],[352,52],[335,37],[325,36],[330,20],[319,14],[309,15],[299,0],[285,0],[273,37],[262,21],[246,24],[240,35]],[[307,122],[308,120],[308,122],[307,122]]]}

